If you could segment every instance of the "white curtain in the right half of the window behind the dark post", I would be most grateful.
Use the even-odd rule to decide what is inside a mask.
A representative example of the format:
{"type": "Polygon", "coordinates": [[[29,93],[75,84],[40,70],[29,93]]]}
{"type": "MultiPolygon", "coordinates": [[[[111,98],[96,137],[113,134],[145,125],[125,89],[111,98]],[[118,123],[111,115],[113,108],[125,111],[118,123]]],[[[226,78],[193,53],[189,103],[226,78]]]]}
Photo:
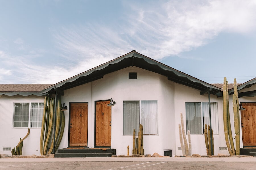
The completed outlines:
{"type": "MultiPolygon", "coordinates": [[[[204,125],[210,125],[210,116],[209,116],[209,103],[202,103],[203,106],[203,122],[204,125]]],[[[214,134],[219,133],[218,126],[218,107],[217,103],[211,103],[211,121],[212,121],[212,131],[214,134]]]]}

